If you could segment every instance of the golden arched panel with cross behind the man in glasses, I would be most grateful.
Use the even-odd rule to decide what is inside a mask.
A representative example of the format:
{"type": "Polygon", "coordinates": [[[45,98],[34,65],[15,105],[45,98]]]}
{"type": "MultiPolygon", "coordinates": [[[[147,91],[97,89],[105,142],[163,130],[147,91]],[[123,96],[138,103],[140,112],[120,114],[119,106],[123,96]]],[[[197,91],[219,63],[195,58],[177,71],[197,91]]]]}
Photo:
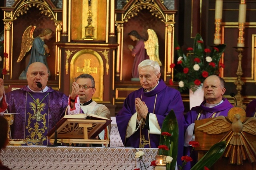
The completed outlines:
{"type": "Polygon", "coordinates": [[[94,101],[103,101],[104,63],[100,54],[91,49],[84,49],[74,54],[70,61],[70,93],[74,79],[80,74],[91,74],[95,80],[94,101]]]}

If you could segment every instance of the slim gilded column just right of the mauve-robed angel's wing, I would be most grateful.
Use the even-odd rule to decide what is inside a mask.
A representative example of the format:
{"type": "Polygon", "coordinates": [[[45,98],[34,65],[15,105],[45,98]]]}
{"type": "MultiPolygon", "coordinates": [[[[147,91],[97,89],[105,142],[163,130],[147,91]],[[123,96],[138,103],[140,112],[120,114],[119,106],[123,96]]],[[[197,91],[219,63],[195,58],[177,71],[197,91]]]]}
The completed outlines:
{"type": "Polygon", "coordinates": [[[169,23],[169,24],[166,24],[166,32],[167,32],[167,38],[166,38],[166,61],[165,63],[166,64],[166,76],[165,76],[165,80],[166,81],[166,78],[168,77],[168,80],[170,78],[173,77],[173,72],[172,72],[172,68],[170,68],[170,65],[171,63],[173,63],[173,28],[174,28],[174,24],[172,23],[169,23]]]}

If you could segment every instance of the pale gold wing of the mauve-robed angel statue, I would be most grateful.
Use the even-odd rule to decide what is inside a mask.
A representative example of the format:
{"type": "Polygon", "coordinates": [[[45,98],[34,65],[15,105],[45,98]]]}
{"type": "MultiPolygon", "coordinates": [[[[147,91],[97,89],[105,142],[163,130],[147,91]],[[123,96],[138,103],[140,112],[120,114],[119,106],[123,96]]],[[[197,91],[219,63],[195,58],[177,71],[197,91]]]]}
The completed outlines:
{"type": "Polygon", "coordinates": [[[153,29],[148,29],[148,40],[144,41],[145,49],[150,60],[157,61],[160,66],[162,63],[159,59],[159,45],[156,32],[153,29]]]}

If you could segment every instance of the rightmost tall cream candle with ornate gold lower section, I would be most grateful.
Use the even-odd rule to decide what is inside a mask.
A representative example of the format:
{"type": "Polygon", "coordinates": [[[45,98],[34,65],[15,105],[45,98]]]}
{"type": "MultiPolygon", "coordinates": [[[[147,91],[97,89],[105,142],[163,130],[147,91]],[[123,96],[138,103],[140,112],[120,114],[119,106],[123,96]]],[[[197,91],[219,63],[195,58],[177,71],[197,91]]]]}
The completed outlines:
{"type": "Polygon", "coordinates": [[[244,47],[244,25],[246,20],[246,3],[241,0],[239,4],[239,17],[238,17],[238,42],[237,47],[244,47]]]}

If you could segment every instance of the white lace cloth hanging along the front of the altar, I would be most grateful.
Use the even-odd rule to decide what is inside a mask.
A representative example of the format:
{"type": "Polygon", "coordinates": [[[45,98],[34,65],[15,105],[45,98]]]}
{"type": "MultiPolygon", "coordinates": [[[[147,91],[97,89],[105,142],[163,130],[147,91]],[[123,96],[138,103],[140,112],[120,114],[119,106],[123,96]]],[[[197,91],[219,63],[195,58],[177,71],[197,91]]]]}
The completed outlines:
{"type": "MultiPolygon", "coordinates": [[[[135,152],[143,151],[147,170],[152,170],[158,149],[8,146],[0,159],[12,170],[133,170],[140,168],[135,152]]],[[[142,170],[145,170],[142,164],[142,170]]]]}

